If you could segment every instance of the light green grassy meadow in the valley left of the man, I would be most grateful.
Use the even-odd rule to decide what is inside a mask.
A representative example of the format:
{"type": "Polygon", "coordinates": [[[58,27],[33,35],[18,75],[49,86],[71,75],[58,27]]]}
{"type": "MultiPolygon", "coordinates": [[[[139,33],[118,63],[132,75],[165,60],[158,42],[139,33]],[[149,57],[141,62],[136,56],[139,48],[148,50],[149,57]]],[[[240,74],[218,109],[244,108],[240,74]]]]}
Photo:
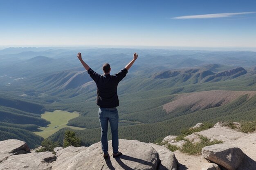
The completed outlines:
{"type": "Polygon", "coordinates": [[[47,127],[40,127],[39,130],[43,130],[40,132],[34,132],[36,135],[39,135],[43,138],[47,138],[50,135],[54,134],[58,130],[62,128],[72,128],[76,130],[83,130],[84,128],[79,128],[75,126],[67,126],[67,123],[70,119],[78,117],[79,114],[77,112],[67,112],[62,110],[54,110],[53,112],[45,112],[42,114],[42,118],[51,122],[47,127]]]}

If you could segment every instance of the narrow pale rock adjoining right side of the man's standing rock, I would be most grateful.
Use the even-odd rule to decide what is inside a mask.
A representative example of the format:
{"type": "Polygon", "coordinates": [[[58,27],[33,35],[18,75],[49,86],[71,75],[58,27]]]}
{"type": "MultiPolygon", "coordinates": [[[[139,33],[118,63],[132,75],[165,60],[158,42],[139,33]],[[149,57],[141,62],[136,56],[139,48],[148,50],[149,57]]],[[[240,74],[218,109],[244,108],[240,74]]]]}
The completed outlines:
{"type": "Polygon", "coordinates": [[[156,144],[148,143],[152,146],[158,153],[161,163],[157,170],[177,170],[177,159],[173,152],[165,148],[164,146],[159,146],[156,144]]]}

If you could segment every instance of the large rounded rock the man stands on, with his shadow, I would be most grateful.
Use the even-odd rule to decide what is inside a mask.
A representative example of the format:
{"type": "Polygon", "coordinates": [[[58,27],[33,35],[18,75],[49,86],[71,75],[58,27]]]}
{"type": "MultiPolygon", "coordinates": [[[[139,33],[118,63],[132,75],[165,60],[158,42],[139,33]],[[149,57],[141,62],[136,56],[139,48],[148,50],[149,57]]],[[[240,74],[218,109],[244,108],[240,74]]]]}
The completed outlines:
{"type": "Polygon", "coordinates": [[[147,143],[120,139],[119,150],[123,155],[117,159],[112,158],[111,141],[108,141],[108,146],[110,154],[108,159],[103,158],[101,142],[99,142],[67,161],[66,170],[157,170],[159,164],[157,151],[147,143]]]}

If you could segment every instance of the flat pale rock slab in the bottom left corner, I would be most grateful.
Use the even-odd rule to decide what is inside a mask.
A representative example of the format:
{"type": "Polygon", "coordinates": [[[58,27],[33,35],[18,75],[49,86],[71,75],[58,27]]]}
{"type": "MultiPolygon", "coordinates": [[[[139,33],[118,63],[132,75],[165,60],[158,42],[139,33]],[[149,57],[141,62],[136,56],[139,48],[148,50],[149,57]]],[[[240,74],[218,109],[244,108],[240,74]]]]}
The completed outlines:
{"type": "Polygon", "coordinates": [[[52,152],[12,155],[0,163],[0,170],[51,170],[56,157],[52,152]]]}

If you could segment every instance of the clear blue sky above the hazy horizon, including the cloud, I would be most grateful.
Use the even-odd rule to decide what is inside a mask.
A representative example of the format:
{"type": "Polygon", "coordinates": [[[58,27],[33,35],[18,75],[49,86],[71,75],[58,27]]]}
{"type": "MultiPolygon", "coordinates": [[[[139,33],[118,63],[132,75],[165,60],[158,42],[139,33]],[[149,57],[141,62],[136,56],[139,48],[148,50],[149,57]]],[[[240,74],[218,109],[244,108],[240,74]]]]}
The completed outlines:
{"type": "Polygon", "coordinates": [[[0,46],[256,47],[255,0],[0,0],[0,16],[0,46]]]}

